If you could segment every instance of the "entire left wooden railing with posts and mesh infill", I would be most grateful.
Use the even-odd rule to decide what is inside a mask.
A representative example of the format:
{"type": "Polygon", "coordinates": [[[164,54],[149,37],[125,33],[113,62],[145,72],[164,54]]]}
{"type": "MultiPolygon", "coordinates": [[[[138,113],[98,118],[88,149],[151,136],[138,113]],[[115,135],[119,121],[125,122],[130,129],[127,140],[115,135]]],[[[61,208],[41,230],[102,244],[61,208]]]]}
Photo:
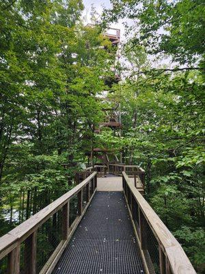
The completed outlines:
{"type": "Polygon", "coordinates": [[[96,191],[96,172],[0,238],[3,273],[51,273],[96,191]]]}

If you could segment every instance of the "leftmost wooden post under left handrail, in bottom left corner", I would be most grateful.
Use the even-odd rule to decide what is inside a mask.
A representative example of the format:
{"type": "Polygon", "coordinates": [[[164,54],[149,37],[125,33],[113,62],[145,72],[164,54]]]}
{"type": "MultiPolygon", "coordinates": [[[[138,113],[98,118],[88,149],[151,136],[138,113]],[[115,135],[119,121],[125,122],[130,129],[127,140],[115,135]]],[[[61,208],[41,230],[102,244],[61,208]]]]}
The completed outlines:
{"type": "Polygon", "coordinates": [[[9,253],[8,274],[20,274],[20,245],[9,253]]]}

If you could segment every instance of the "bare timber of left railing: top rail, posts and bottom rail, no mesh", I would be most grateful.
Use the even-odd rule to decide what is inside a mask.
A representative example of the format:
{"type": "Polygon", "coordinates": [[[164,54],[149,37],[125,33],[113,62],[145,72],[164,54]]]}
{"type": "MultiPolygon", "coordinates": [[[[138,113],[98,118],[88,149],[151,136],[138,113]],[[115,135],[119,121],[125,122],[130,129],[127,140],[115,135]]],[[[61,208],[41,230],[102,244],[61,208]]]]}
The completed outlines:
{"type": "MultiPolygon", "coordinates": [[[[62,234],[61,242],[55,249],[55,258],[50,262],[46,262],[40,273],[46,273],[50,268],[54,268],[57,263],[57,254],[61,253],[65,249],[66,244],[77,227],[80,219],[82,218],[87,206],[89,205],[94,192],[96,191],[97,177],[96,172],[92,173],[83,182],[72,188],[72,190],[66,192],[66,194],[59,197],[57,200],[50,203],[49,206],[43,208],[31,218],[15,227],[10,232],[0,238],[0,260],[8,255],[8,273],[16,274],[20,273],[20,245],[25,242],[25,245],[29,245],[29,251],[31,251],[31,258],[25,262],[27,268],[26,273],[36,274],[36,234],[38,234],[38,228],[41,227],[51,216],[62,210],[61,214],[61,228],[59,234],[62,234]],[[86,206],[83,207],[83,190],[85,188],[86,206]],[[73,221],[72,225],[69,225],[69,204],[70,200],[77,195],[77,218],[73,221]]],[[[25,248],[25,251],[27,249],[25,248]]]]}

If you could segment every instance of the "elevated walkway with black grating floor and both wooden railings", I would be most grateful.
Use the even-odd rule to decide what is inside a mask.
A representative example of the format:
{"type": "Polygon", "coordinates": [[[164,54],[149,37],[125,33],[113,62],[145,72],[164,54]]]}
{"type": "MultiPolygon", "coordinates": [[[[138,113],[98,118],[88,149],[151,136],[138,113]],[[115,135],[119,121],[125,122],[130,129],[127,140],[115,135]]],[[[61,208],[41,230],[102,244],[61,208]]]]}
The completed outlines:
{"type": "Polygon", "coordinates": [[[1,237],[0,273],[196,274],[131,178],[121,176],[93,172],[1,237]]]}

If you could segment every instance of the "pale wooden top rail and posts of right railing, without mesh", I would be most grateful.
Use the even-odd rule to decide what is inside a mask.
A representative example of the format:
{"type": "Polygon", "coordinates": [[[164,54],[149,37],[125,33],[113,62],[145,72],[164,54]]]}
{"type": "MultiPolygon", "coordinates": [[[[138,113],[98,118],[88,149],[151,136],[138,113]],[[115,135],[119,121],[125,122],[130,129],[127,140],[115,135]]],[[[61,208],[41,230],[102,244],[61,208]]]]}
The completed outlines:
{"type": "MultiPolygon", "coordinates": [[[[126,175],[125,172],[122,172],[123,175],[123,182],[126,184],[124,189],[124,194],[126,196],[126,199],[128,201],[128,206],[130,208],[131,214],[133,214],[133,199],[137,202],[138,208],[139,208],[139,232],[138,232],[138,240],[141,244],[141,249],[143,249],[143,242],[142,239],[144,238],[143,235],[143,227],[141,223],[141,214],[143,214],[143,217],[146,219],[147,224],[149,225],[150,229],[152,230],[157,242],[159,242],[159,253],[163,252],[163,256],[167,260],[165,268],[167,269],[166,273],[170,273],[169,269],[171,269],[173,274],[195,274],[195,270],[193,269],[193,266],[191,262],[189,261],[189,258],[187,258],[186,253],[182,249],[180,243],[176,238],[172,235],[172,233],[169,231],[169,229],[165,226],[163,221],[159,218],[159,216],[154,212],[154,210],[151,208],[149,203],[146,201],[146,199],[143,198],[143,196],[139,193],[137,188],[133,186],[133,184],[130,182],[130,179],[126,175]],[[127,188],[128,187],[128,188],[127,188]],[[128,194],[128,189],[130,193],[128,194]],[[132,196],[131,196],[132,195],[132,196]],[[129,197],[128,197],[129,196],[129,197]],[[133,199],[132,199],[133,198],[133,199]],[[130,204],[129,204],[130,203],[130,204]]],[[[136,212],[135,212],[136,213],[136,212]]],[[[148,243],[149,244],[149,243],[148,243]]],[[[164,273],[163,270],[163,263],[162,262],[162,255],[159,256],[160,260],[160,273],[164,273]]]]}

